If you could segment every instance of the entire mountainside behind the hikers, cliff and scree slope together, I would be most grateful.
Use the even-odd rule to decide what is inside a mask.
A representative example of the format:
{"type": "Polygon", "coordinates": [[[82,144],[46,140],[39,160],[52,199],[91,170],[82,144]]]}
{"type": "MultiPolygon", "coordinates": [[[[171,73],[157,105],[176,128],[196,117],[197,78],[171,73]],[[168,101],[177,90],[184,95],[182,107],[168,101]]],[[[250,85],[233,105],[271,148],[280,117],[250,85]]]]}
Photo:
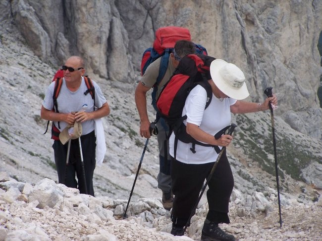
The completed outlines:
{"type": "MultiPolygon", "coordinates": [[[[281,191],[316,200],[322,189],[322,111],[317,42],[322,4],[305,1],[0,0],[0,170],[17,180],[56,180],[50,135],[41,135],[44,92],[70,55],[81,55],[111,106],[104,119],[107,154],[95,189],[127,198],[143,149],[134,88],[154,31],[187,27],[210,55],[245,73],[249,100],[272,86],[281,191]]],[[[153,110],[149,115],[153,120],[153,110]]],[[[269,112],[237,115],[229,159],[243,193],[275,187],[269,112]]],[[[156,139],[151,138],[133,199],[159,197],[156,139]],[[149,190],[149,192],[147,192],[149,190]]]]}

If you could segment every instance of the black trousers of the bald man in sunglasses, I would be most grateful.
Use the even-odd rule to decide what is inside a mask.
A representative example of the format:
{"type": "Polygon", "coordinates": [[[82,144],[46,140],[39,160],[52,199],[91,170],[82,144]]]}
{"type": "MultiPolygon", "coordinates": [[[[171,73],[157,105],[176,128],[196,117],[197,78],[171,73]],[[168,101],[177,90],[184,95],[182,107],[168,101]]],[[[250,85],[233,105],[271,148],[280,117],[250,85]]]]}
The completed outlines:
{"type": "Polygon", "coordinates": [[[86,185],[87,194],[94,196],[93,175],[96,166],[95,132],[92,131],[89,134],[81,136],[81,145],[84,170],[81,162],[78,139],[71,140],[68,165],[66,165],[68,142],[65,145],[62,145],[60,141],[54,141],[53,149],[58,174],[58,182],[65,184],[70,188],[78,188],[80,193],[86,193],[86,185]],[[86,184],[84,183],[84,171],[86,184]]]}

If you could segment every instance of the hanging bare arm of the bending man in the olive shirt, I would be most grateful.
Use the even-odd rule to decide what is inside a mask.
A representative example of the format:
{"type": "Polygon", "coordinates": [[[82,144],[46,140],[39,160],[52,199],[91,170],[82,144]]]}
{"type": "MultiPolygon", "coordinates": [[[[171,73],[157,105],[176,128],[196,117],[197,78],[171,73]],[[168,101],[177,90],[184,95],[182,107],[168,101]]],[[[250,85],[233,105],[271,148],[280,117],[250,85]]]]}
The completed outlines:
{"type": "Polygon", "coordinates": [[[146,94],[150,88],[139,82],[135,89],[135,104],[140,116],[140,135],[145,138],[150,138],[150,121],[147,111],[146,94]]]}

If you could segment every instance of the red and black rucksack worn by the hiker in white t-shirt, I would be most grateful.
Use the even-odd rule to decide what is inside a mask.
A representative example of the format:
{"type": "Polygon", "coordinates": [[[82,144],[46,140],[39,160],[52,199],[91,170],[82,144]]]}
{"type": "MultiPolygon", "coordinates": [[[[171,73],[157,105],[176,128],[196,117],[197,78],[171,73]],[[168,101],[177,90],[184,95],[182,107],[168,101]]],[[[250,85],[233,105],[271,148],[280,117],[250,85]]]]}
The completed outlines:
{"type": "MultiPolygon", "coordinates": [[[[198,84],[207,91],[207,103],[205,109],[209,106],[213,92],[208,80],[210,76],[210,64],[215,60],[214,57],[189,54],[183,57],[170,80],[163,86],[161,94],[157,100],[158,113],[167,122],[170,130],[175,134],[174,156],[176,156],[177,141],[192,143],[191,151],[195,153],[195,145],[214,147],[219,153],[217,146],[205,144],[195,140],[186,131],[186,125],[183,123],[187,116],[182,117],[182,110],[190,91],[198,84]]],[[[215,138],[218,139],[226,129],[219,131],[215,138]]],[[[175,158],[175,157],[174,157],[175,158]]]]}

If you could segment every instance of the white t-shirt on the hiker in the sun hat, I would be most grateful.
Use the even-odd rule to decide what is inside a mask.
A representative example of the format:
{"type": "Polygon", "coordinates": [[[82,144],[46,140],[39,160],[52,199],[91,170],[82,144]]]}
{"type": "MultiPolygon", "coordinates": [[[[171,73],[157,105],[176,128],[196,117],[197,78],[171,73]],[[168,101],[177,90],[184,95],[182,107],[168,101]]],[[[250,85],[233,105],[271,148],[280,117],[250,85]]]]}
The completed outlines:
{"type": "MultiPolygon", "coordinates": [[[[232,98],[218,99],[213,94],[212,101],[205,110],[207,100],[207,92],[204,87],[197,85],[193,88],[182,110],[182,116],[187,115],[184,121],[196,124],[203,131],[215,136],[222,128],[230,125],[231,113],[230,106],[234,105],[237,100],[232,98]],[[222,100],[222,101],[221,101],[222,100]]],[[[169,139],[170,155],[174,157],[174,133],[169,139]]],[[[183,143],[178,140],[176,160],[188,164],[202,164],[216,161],[218,154],[213,147],[195,146],[196,153],[192,153],[191,143],[183,143]]],[[[221,147],[219,147],[221,148],[221,147]]]]}

